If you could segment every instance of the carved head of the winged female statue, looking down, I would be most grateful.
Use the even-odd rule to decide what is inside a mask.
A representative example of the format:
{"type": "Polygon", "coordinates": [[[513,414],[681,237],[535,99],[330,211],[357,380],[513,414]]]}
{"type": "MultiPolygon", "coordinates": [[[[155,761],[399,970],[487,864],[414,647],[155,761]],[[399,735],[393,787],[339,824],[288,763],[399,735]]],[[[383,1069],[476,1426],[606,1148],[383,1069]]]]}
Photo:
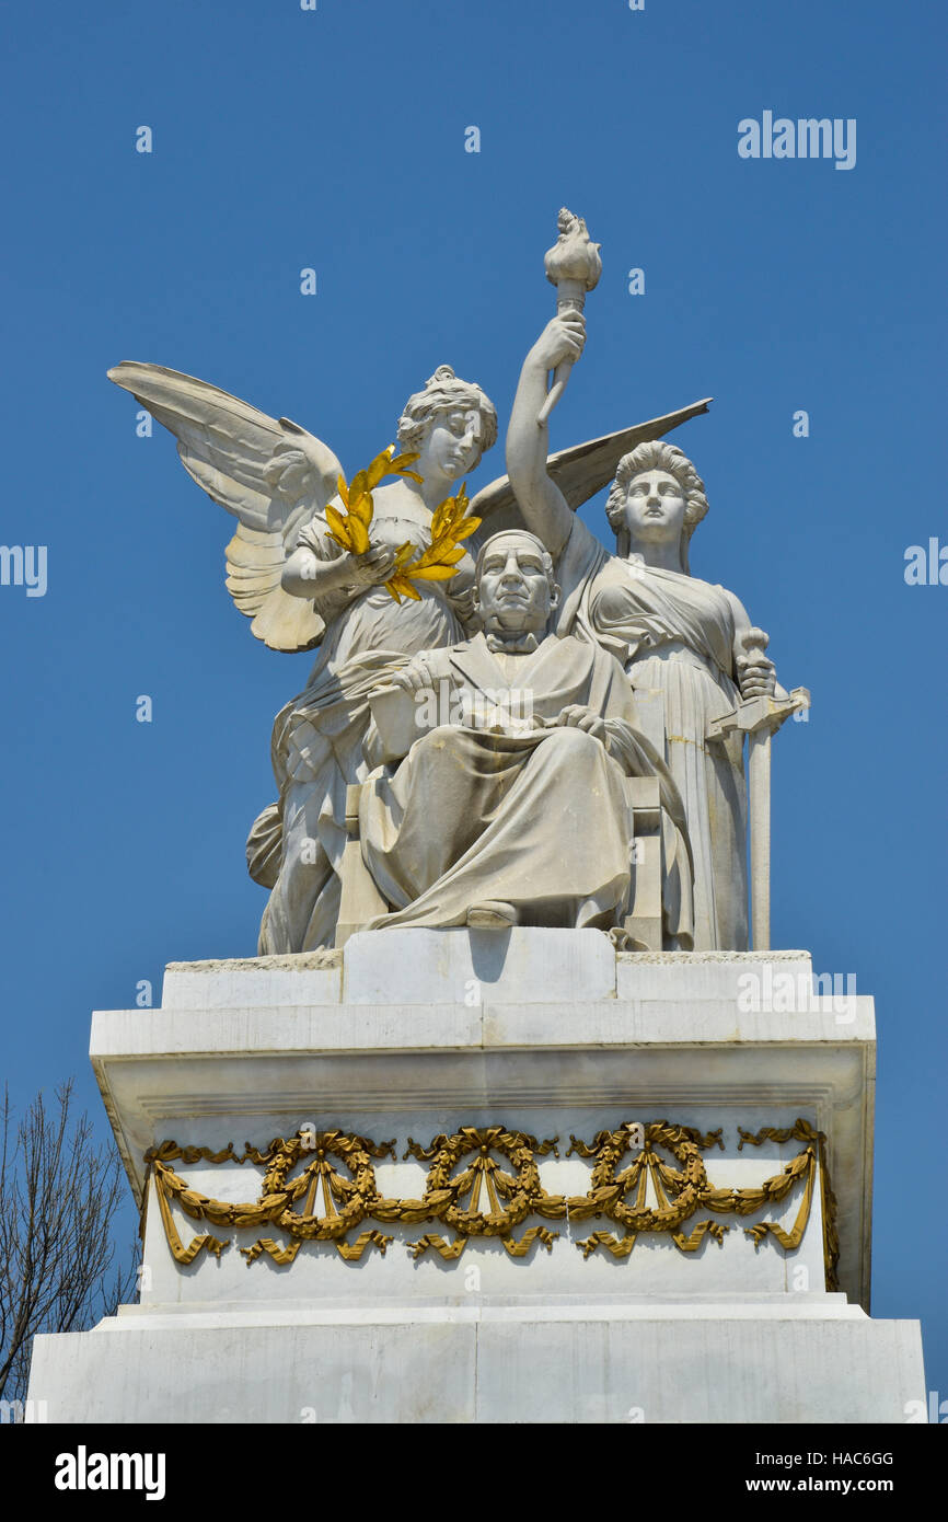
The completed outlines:
{"type": "Polygon", "coordinates": [[[450,365],[438,365],[423,391],[415,391],[399,419],[399,444],[420,455],[425,479],[469,475],[496,441],[498,414],[473,380],[460,380],[450,365]]]}

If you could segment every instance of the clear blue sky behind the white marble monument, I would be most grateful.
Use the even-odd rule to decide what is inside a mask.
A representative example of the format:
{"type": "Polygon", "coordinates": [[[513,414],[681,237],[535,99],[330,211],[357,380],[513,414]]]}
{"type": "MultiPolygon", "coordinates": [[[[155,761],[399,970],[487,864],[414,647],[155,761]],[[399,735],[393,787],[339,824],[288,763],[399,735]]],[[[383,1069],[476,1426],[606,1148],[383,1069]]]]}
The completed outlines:
{"type": "MultiPolygon", "coordinates": [[[[47,546],[49,587],[0,587],[0,1076],[26,1100],[78,1073],[97,1111],[90,1011],[254,950],[243,842],[309,668],[254,642],[230,521],[160,428],[135,437],[107,367],[202,376],[350,472],[441,362],[504,429],[566,202],[604,272],[554,446],[714,396],[674,435],[711,501],[692,571],[813,691],[775,743],[773,944],[876,998],[873,1313],[924,1318],[948,1396],[948,586],[904,580],[908,545],[948,545],[937,9],[99,0],[3,30],[2,537],[47,546]],[[855,167],[740,158],[764,111],[855,119],[855,167]]],[[[502,469],[501,443],[473,486],[502,469]]]]}

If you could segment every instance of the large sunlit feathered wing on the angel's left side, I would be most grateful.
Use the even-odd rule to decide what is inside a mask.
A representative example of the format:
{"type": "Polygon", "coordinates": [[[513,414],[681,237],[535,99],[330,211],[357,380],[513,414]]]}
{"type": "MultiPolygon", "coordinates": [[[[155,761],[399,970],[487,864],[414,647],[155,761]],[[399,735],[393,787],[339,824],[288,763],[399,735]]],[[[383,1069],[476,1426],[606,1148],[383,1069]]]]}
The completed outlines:
{"type": "Polygon", "coordinates": [[[227,589],[251,633],[271,650],[312,650],[324,622],[312,603],[291,597],[280,575],[303,522],[336,493],[332,449],[239,397],[164,365],[125,359],[108,379],[123,387],[178,440],[181,464],[237,519],[227,546],[227,589]]]}

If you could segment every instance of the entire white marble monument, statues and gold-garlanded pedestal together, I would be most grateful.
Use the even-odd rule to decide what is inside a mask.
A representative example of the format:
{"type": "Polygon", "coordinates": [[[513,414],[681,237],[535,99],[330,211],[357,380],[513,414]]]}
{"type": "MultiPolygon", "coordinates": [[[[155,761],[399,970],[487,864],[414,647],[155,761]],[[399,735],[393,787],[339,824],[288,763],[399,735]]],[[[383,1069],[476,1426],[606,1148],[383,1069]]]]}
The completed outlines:
{"type": "Polygon", "coordinates": [[[110,371],[237,519],[253,635],[317,654],[248,840],[257,954],[93,1017],[142,1298],[37,1338],[50,1420],[924,1402],[918,1323],[869,1317],[872,998],[770,948],[771,738],[810,696],[691,572],[708,496],[665,435],[708,402],[551,452],[601,268],[563,210],[470,499],[498,419],[449,365],[350,479],[288,419],[110,371]],[[607,486],[615,549],[577,514],[607,486]]]}

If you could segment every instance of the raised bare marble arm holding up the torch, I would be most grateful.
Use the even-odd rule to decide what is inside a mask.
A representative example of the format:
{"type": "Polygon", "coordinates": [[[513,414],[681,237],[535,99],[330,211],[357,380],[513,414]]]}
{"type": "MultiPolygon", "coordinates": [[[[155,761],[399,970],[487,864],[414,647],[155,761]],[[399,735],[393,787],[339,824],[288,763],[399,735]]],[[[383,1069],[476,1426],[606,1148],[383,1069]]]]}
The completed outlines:
{"type": "Polygon", "coordinates": [[[543,540],[554,560],[572,528],[572,510],[546,473],[549,428],[539,423],[546,400],[546,374],[561,359],[578,359],[586,342],[580,312],[565,312],[546,324],[523,361],[520,384],[507,429],[507,472],[528,527],[543,540]]]}

